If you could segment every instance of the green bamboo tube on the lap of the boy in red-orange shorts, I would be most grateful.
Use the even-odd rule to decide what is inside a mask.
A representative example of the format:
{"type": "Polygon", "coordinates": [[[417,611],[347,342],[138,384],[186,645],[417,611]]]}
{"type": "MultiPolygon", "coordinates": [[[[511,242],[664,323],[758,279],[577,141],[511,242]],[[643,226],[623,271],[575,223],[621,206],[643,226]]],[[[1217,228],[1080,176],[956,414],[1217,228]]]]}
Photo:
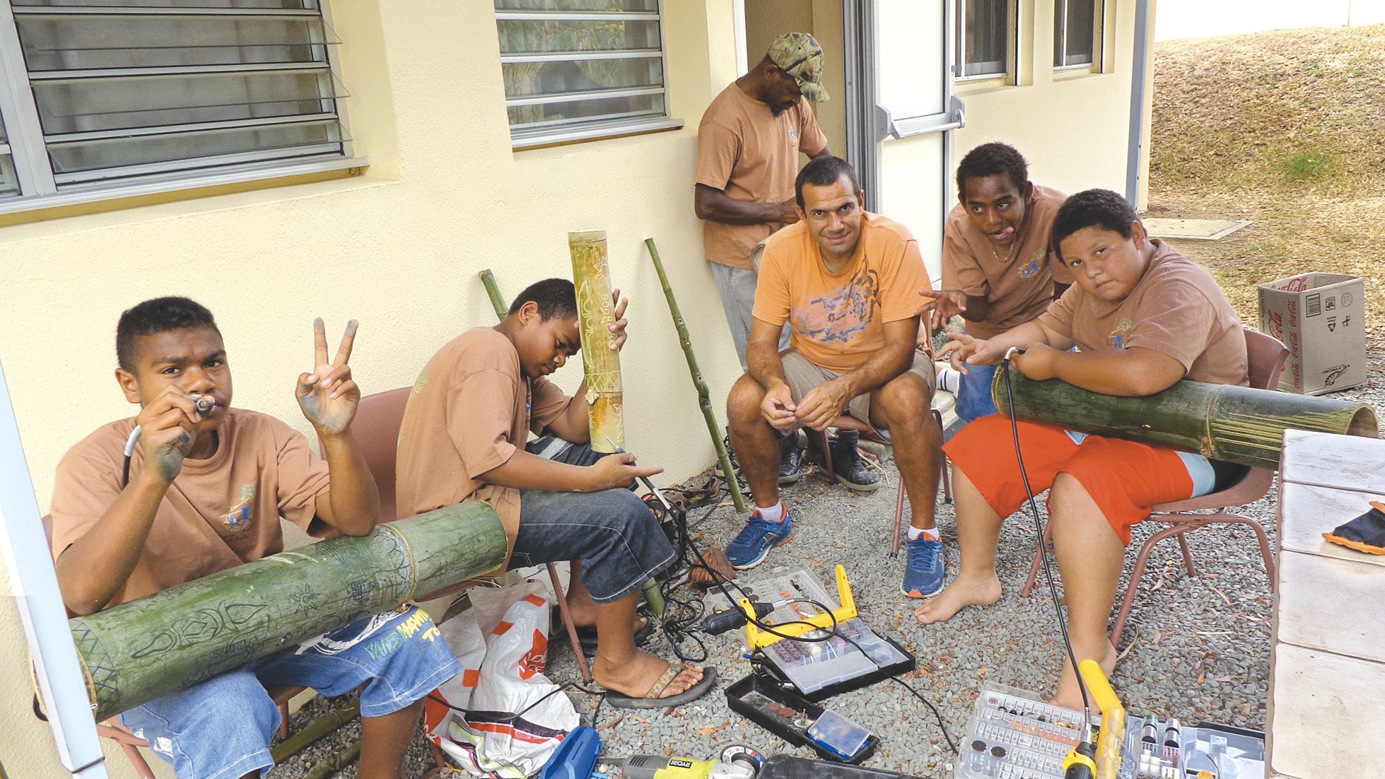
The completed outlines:
{"type": "Polygon", "coordinates": [[[1058,425],[1213,459],[1277,469],[1284,430],[1317,430],[1377,437],[1375,411],[1364,403],[1228,385],[1181,381],[1144,397],[1089,392],[1068,382],[1036,382],[1017,368],[996,371],[992,398],[1010,415],[1006,371],[1014,389],[1015,419],[1058,425]]]}

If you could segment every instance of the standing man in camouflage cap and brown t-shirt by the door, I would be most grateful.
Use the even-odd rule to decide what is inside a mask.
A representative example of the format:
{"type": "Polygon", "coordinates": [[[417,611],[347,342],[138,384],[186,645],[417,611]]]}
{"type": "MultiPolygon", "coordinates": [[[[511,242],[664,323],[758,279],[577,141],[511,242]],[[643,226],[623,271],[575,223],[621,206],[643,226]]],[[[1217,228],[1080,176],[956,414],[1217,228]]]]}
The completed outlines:
{"type": "MultiPolygon", "coordinates": [[[[809,101],[825,102],[823,47],[807,33],[774,39],[769,53],[716,95],[697,129],[697,188],[692,208],[702,220],[702,246],[745,369],[745,345],[755,317],[755,248],[798,221],[794,177],[798,154],[831,154],[809,101]]],[[[780,335],[788,349],[788,328],[780,335]]],[[[799,476],[798,439],[784,439],[780,484],[799,476]]]]}

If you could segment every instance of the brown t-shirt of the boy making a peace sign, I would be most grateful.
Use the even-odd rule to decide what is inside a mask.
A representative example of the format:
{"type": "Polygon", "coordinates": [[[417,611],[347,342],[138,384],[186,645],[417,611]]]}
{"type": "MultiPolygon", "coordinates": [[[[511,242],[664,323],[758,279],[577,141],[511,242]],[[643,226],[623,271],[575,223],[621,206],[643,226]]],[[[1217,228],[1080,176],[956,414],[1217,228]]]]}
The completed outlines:
{"type": "MultiPolygon", "coordinates": [[[[53,556],[82,538],[120,494],[125,440],[134,419],[112,422],[68,450],[53,488],[53,556]]],[[[284,549],[283,516],[313,534],[317,498],[327,494],[327,462],[307,439],[278,419],[231,408],[216,452],[184,459],[154,515],[134,571],[109,606],[284,549]]],[[[143,455],[130,461],[137,473],[143,455]]]]}

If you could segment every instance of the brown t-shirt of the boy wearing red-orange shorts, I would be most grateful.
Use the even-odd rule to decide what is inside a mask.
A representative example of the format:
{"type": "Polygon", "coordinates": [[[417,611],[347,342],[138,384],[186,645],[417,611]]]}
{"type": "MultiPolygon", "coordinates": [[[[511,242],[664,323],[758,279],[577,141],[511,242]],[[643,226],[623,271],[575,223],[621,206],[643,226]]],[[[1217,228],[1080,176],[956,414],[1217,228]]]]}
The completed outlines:
{"type": "Polygon", "coordinates": [[[1150,267],[1125,300],[1101,300],[1072,285],[1039,324],[1083,351],[1152,349],[1183,363],[1194,382],[1246,386],[1245,333],[1226,293],[1197,263],[1158,238],[1151,242],[1150,267]]]}

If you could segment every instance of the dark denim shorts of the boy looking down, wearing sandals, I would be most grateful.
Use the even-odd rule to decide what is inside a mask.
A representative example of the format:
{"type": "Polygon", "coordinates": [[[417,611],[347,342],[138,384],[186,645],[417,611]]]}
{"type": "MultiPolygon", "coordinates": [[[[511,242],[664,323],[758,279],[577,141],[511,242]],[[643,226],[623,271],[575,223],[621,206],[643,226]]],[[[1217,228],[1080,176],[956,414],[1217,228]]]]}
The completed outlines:
{"type": "MultiPolygon", "coordinates": [[[[601,459],[587,444],[544,436],[530,454],[568,465],[601,459]]],[[[630,490],[600,493],[519,491],[519,534],[510,567],[582,560],[582,584],[591,601],[611,603],[673,565],[677,553],[654,513],[630,490]]]]}

